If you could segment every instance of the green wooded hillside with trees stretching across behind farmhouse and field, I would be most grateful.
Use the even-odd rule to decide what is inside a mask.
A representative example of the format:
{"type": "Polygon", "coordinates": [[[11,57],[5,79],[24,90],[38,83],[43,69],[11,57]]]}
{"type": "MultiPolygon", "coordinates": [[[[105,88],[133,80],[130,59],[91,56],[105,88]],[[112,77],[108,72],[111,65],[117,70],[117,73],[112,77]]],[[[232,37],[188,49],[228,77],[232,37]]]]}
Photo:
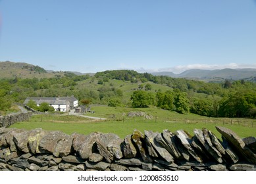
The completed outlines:
{"type": "MultiPolygon", "coordinates": [[[[192,112],[211,117],[256,116],[256,83],[226,80],[222,83],[170,78],[140,74],[132,70],[98,72],[95,76],[76,76],[32,79],[1,79],[0,110],[8,110],[12,103],[23,103],[26,97],[58,97],[74,95],[81,104],[107,104],[109,106],[157,106],[179,113],[192,112]],[[80,81],[90,80],[97,89],[80,86],[80,81]],[[125,101],[124,91],[111,80],[137,84],[130,99],[125,101]],[[153,89],[154,84],[167,86],[167,91],[153,89]]],[[[127,94],[127,93],[126,93],[127,94]]]]}

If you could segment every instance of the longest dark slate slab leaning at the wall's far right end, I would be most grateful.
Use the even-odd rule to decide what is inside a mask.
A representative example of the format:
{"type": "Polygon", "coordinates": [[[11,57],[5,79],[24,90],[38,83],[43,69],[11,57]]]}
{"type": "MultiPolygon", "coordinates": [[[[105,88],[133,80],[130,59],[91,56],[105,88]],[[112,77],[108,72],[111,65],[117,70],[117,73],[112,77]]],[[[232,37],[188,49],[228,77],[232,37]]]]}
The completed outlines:
{"type": "Polygon", "coordinates": [[[225,137],[226,141],[242,154],[243,158],[252,164],[256,164],[256,154],[254,154],[243,142],[243,140],[226,127],[216,127],[218,132],[225,137]]]}

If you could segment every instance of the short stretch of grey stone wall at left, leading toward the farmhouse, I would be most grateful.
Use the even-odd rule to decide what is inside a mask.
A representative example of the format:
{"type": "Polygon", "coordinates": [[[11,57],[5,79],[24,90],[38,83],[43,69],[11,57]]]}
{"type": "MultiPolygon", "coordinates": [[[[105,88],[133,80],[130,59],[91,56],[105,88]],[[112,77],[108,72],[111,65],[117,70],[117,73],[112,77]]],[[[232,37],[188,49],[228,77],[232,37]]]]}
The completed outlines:
{"type": "Polygon", "coordinates": [[[31,116],[32,112],[20,112],[15,114],[9,114],[7,116],[0,116],[0,127],[9,127],[16,122],[27,121],[31,116]]]}

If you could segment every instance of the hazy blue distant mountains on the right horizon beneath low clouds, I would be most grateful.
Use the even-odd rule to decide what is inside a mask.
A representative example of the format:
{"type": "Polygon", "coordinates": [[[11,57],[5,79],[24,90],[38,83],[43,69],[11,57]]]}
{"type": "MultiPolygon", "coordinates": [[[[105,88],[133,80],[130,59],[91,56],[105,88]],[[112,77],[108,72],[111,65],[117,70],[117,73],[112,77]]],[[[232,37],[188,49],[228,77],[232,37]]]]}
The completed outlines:
{"type": "Polygon", "coordinates": [[[242,69],[221,69],[221,70],[200,70],[192,69],[186,70],[181,74],[174,74],[173,72],[155,72],[151,73],[155,76],[170,76],[172,78],[187,78],[194,80],[250,80],[256,77],[256,69],[242,68],[242,69]]]}

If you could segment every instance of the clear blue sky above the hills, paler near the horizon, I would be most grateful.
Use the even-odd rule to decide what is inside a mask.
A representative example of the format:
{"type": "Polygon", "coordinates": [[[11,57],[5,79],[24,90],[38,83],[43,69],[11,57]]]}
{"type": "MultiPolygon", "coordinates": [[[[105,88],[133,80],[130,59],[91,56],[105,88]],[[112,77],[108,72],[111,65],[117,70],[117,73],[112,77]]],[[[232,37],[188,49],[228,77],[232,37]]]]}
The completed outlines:
{"type": "Polygon", "coordinates": [[[47,70],[256,68],[253,0],[0,0],[0,61],[47,70]]]}

